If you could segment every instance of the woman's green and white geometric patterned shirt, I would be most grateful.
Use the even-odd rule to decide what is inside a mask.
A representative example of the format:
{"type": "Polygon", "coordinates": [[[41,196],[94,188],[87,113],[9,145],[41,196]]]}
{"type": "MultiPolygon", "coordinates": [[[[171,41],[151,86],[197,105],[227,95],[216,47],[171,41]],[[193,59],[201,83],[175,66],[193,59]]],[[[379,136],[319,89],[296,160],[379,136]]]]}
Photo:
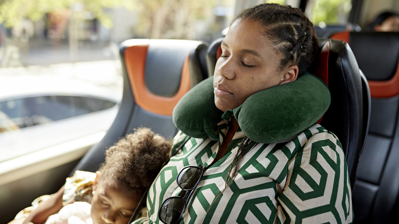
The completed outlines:
{"type": "MultiPolygon", "coordinates": [[[[219,141],[191,138],[172,156],[150,186],[148,217],[134,223],[162,223],[163,201],[178,195],[176,177],[185,166],[208,166],[228,130],[218,124],[219,141]]],[[[230,165],[245,135],[235,133],[226,155],[205,171],[181,223],[351,223],[351,190],[345,156],[337,137],[319,124],[279,143],[250,142],[233,182],[230,165]],[[215,199],[217,198],[217,199],[215,199]],[[212,206],[211,206],[212,205],[212,206]]],[[[174,138],[174,149],[188,137],[174,138]]]]}

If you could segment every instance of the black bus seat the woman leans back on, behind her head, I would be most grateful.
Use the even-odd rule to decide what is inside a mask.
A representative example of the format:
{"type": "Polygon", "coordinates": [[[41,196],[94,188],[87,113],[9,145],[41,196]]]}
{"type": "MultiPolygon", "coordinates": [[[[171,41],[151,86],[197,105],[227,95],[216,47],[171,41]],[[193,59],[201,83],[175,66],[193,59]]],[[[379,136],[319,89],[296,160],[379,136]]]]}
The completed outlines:
{"type": "MultiPolygon", "coordinates": [[[[223,38],[212,42],[207,52],[208,74],[212,75],[221,55],[223,38]]],[[[333,39],[319,39],[319,53],[315,58],[316,74],[328,85],[331,104],[320,124],[333,131],[345,152],[351,187],[356,180],[359,155],[368,130],[370,93],[367,81],[348,44],[333,39]]]]}

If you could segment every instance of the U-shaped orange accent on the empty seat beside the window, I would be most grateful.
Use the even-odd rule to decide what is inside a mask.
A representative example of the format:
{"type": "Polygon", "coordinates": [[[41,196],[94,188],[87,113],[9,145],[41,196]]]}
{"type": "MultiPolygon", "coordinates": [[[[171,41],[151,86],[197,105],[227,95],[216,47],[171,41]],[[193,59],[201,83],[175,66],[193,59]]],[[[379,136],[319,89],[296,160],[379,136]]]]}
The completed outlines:
{"type": "Polygon", "coordinates": [[[171,116],[174,106],[191,87],[188,55],[183,64],[182,78],[178,92],[172,97],[150,93],[145,85],[145,60],[148,43],[127,47],[124,52],[126,70],[137,105],[154,114],[171,116]]]}

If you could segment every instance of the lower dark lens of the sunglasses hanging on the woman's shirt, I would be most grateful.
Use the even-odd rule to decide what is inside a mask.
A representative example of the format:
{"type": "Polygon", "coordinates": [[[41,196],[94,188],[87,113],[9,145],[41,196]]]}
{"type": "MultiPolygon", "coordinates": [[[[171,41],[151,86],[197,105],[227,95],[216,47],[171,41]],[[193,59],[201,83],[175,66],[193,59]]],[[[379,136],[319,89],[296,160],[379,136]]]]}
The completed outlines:
{"type": "Polygon", "coordinates": [[[167,224],[177,223],[184,210],[184,200],[180,197],[168,198],[162,204],[159,218],[167,224]]]}

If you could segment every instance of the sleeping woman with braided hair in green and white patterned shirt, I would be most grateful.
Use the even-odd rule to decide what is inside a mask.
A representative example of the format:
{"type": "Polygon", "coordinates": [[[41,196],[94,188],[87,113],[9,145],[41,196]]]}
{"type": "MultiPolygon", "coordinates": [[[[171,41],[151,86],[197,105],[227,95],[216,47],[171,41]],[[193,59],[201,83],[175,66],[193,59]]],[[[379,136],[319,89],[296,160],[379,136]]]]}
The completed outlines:
{"type": "MultiPolygon", "coordinates": [[[[313,125],[320,117],[295,135],[268,143],[262,141],[267,135],[261,133],[258,141],[247,135],[250,130],[243,131],[248,123],[262,121],[249,116],[240,123],[237,109],[263,91],[307,77],[316,46],[313,25],[298,9],[262,4],[241,12],[221,43],[210,84],[218,111],[205,114],[217,119],[214,133],[204,127],[207,137],[198,138],[191,131],[195,125],[175,121],[181,129],[174,138],[175,154],[150,186],[148,217],[134,223],[352,222],[343,150],[333,133],[313,125]]],[[[184,117],[179,108],[192,108],[201,99],[190,105],[183,101],[174,118],[184,117]]],[[[204,114],[191,111],[192,117],[204,114]]],[[[290,116],[290,111],[275,112],[290,116]]]]}

